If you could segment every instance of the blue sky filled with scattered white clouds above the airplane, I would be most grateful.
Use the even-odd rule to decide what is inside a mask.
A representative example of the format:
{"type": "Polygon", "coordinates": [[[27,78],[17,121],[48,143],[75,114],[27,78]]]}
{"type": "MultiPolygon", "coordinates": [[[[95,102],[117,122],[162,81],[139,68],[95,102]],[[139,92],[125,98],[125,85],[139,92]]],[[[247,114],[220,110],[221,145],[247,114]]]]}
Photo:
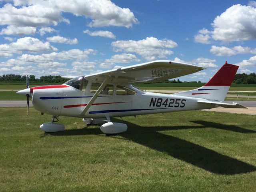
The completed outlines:
{"type": "Polygon", "coordinates": [[[79,76],[153,60],[256,72],[256,1],[0,0],[0,76],[79,76]]]}

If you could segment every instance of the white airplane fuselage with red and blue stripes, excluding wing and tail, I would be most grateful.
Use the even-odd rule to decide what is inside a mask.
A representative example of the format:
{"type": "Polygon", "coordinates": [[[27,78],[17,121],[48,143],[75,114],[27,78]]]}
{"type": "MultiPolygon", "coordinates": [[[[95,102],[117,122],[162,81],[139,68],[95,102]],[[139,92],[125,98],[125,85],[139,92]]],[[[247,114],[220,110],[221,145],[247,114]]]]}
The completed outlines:
{"type": "Polygon", "coordinates": [[[34,87],[32,102],[34,108],[43,113],[82,118],[135,116],[212,108],[208,104],[199,104],[199,98],[144,92],[132,85],[113,83],[108,85],[110,90],[102,92],[89,110],[81,116],[81,111],[94,96],[93,85],[89,82],[85,90],[68,84],[34,87]]]}

